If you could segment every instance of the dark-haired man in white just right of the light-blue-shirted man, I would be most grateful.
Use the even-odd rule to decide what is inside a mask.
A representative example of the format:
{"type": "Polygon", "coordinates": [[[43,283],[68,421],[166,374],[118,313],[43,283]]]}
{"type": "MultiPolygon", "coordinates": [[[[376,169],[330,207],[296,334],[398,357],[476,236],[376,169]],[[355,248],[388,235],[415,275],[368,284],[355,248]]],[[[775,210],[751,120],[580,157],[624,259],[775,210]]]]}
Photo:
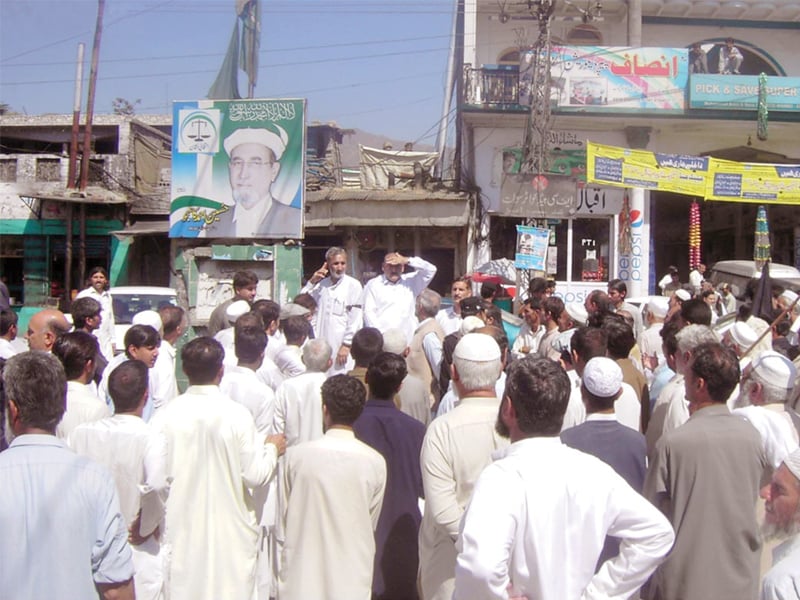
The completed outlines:
{"type": "Polygon", "coordinates": [[[104,465],[114,476],[122,516],[130,528],[136,598],[161,600],[166,556],[158,528],[169,493],[167,445],[164,437],[142,420],[147,387],[147,367],[137,360],[125,361],[109,381],[117,413],[79,425],[68,443],[75,452],[104,465]]]}

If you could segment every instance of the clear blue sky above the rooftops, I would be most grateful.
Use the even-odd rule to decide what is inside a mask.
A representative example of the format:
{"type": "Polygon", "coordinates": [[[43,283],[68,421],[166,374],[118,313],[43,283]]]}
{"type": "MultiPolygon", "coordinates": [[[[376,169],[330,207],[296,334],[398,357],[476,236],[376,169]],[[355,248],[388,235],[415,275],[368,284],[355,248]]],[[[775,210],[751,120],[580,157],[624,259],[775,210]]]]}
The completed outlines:
{"type": "MultiPolygon", "coordinates": [[[[256,98],[306,98],[308,122],[434,142],[454,0],[261,2],[256,98]]],[[[29,115],[72,113],[83,42],[85,110],[97,8],[0,0],[0,102],[29,115]]],[[[117,97],[140,100],[138,114],[205,98],[235,21],[235,0],[106,0],[95,113],[112,112],[117,97]]]]}

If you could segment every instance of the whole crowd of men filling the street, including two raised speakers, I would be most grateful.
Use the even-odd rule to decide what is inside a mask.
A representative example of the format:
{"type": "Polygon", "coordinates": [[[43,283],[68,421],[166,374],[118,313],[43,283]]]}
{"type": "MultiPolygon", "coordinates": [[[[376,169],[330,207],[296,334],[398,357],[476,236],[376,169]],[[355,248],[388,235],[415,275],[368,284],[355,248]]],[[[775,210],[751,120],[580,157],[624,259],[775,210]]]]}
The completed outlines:
{"type": "Polygon", "coordinates": [[[390,253],[362,287],[334,247],[283,306],[236,273],[182,394],[179,307],[116,356],[91,297],[21,353],[0,311],[8,597],[800,599],[794,291],[768,322],[701,272],[642,310],[537,278],[509,339],[435,273],[390,253]]]}

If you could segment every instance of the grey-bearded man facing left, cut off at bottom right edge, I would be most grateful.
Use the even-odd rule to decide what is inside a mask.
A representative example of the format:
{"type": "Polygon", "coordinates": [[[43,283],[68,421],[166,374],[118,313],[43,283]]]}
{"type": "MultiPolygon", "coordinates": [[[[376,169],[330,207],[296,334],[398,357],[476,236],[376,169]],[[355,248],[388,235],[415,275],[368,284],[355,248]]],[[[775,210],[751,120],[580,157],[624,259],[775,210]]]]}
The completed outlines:
{"type": "Polygon", "coordinates": [[[761,488],[766,501],[762,533],[781,540],[773,566],[761,583],[761,600],[800,598],[800,450],[787,456],[772,481],[761,488]]]}

